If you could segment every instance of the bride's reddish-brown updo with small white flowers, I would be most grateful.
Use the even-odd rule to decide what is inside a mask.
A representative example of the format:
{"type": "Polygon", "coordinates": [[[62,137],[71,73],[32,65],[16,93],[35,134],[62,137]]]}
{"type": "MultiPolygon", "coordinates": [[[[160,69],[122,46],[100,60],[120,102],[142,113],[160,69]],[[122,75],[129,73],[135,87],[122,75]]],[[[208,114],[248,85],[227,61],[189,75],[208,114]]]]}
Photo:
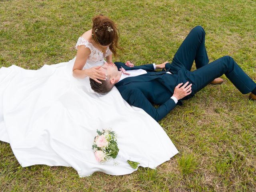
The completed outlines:
{"type": "Polygon", "coordinates": [[[118,45],[119,30],[116,24],[107,16],[98,15],[92,18],[92,38],[102,46],[108,46],[111,52],[116,56],[116,48],[122,50],[118,45]]]}

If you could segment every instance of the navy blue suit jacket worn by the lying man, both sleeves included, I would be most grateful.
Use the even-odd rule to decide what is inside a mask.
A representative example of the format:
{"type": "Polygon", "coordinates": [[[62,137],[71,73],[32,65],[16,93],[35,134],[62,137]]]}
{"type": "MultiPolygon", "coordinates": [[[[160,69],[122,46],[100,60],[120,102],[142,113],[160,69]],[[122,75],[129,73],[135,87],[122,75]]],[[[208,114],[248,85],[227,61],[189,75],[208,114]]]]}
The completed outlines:
{"type": "MultiPolygon", "coordinates": [[[[147,74],[129,77],[116,83],[115,86],[120,94],[130,105],[142,108],[156,121],[164,118],[176,104],[170,97],[173,95],[174,88],[177,84],[178,75],[166,74],[171,69],[171,64],[166,64],[166,71],[154,71],[153,64],[142,66],[128,67],[122,62],[115,62],[116,66],[125,70],[144,69],[147,74]],[[159,104],[154,108],[152,104],[159,104]]],[[[181,104],[179,101],[178,104],[181,104]]]]}

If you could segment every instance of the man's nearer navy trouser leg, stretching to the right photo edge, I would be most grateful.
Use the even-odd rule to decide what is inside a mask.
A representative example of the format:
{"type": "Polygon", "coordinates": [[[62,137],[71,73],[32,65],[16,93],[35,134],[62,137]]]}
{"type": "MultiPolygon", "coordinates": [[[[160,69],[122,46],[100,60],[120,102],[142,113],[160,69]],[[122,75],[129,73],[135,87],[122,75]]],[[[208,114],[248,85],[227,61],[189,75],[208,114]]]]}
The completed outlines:
{"type": "Polygon", "coordinates": [[[188,79],[193,84],[191,96],[223,74],[242,94],[252,92],[256,88],[256,83],[238,66],[234,59],[230,56],[224,56],[193,72],[186,71],[188,79]]]}

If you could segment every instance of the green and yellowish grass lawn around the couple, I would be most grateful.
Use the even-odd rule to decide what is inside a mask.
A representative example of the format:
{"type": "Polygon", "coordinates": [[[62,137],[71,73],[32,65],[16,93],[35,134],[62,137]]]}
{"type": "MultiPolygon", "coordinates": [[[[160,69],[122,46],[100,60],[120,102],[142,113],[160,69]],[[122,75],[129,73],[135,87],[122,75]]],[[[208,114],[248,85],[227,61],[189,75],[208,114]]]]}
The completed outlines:
{"type": "MultiPolygon", "coordinates": [[[[230,55],[256,81],[255,0],[0,0],[0,66],[36,70],[71,60],[78,37],[100,13],[121,33],[125,50],[114,61],[171,62],[201,25],[210,62],[230,55]]],[[[22,168],[0,142],[0,191],[255,191],[256,102],[223,78],[159,122],[180,153],[156,170],[79,178],[70,167],[22,168]]]]}

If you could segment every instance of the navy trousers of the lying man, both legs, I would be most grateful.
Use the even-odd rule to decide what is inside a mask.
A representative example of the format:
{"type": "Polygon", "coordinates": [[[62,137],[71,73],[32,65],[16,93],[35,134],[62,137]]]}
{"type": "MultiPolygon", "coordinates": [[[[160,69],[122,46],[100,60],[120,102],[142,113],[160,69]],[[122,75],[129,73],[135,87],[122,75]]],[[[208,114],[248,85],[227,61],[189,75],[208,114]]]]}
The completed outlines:
{"type": "MultiPolygon", "coordinates": [[[[191,98],[196,92],[223,74],[242,94],[252,92],[256,88],[256,83],[238,66],[232,57],[224,56],[208,64],[209,59],[204,42],[204,29],[201,26],[194,27],[182,42],[172,60],[172,65],[184,71],[184,77],[180,81],[192,83],[192,94],[184,99],[191,98]],[[196,70],[191,72],[194,60],[196,70]]],[[[181,82],[178,81],[177,84],[181,82]]]]}

